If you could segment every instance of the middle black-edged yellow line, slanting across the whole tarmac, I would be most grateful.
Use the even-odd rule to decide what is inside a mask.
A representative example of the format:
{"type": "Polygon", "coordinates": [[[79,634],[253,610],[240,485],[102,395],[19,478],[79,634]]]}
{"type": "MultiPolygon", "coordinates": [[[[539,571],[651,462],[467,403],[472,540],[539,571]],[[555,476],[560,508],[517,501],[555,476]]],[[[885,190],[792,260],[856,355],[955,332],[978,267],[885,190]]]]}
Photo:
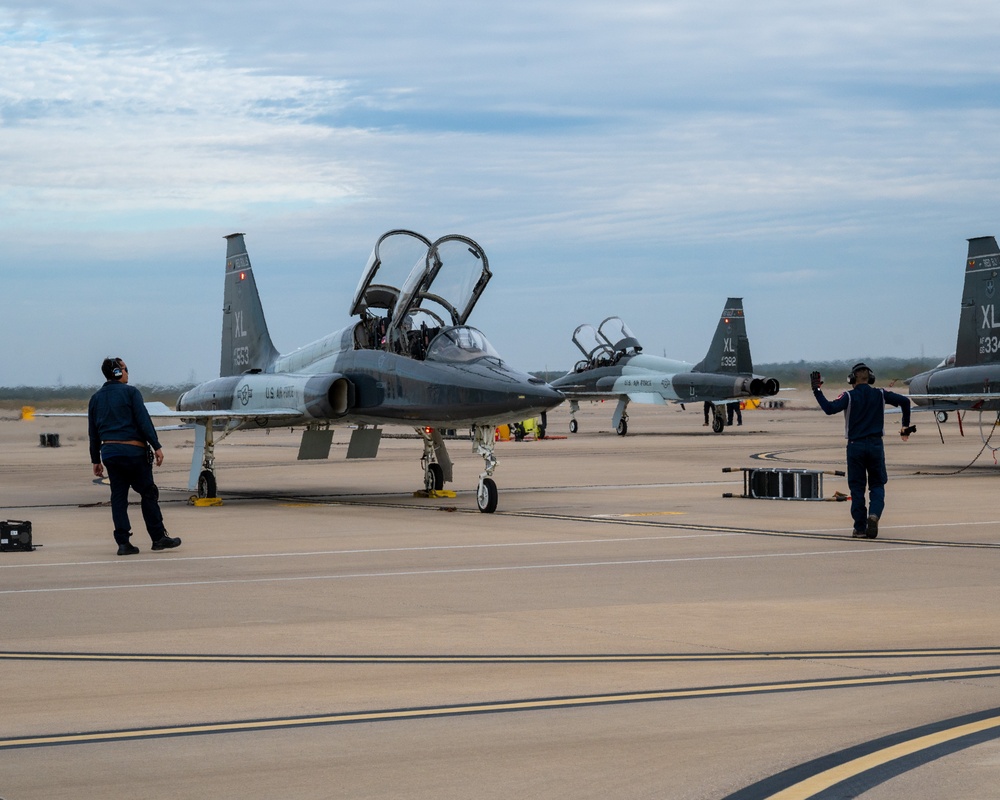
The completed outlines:
{"type": "Polygon", "coordinates": [[[256,730],[282,730],[319,725],[344,725],[363,722],[393,722],[409,719],[428,719],[465,716],[471,714],[497,714],[517,711],[544,711],[564,708],[600,707],[623,703],[644,703],[664,700],[725,697],[746,694],[773,694],[776,692],[809,691],[814,689],[851,688],[884,684],[922,683],[943,680],[971,680],[1000,677],[1000,667],[982,669],[945,670],[923,673],[899,673],[823,680],[787,681],[782,683],[715,686],[692,689],[670,689],[652,692],[626,692],[605,695],[580,695],[570,697],[509,700],[472,703],[453,706],[427,706],[422,708],[389,709],[383,711],[355,711],[340,714],[321,714],[304,717],[276,717],[258,720],[215,722],[193,725],[175,725],[155,728],[128,728],[117,731],[92,731],[82,733],[50,734],[0,739],[0,750],[52,745],[99,744],[135,739],[153,739],[167,736],[200,736],[214,733],[245,733],[256,730]]]}

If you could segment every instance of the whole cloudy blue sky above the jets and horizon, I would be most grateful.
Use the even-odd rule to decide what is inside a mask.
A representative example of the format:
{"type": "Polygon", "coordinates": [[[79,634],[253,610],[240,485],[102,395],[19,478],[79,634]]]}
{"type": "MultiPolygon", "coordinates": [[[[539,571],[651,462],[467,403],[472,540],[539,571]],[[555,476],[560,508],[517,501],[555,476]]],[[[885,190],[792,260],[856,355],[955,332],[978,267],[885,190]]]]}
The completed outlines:
{"type": "Polygon", "coordinates": [[[482,245],[524,369],[611,315],[698,361],[729,296],[757,362],[953,352],[997,4],[337,5],[0,4],[0,385],[216,376],[234,231],[283,351],[402,227],[482,245]]]}

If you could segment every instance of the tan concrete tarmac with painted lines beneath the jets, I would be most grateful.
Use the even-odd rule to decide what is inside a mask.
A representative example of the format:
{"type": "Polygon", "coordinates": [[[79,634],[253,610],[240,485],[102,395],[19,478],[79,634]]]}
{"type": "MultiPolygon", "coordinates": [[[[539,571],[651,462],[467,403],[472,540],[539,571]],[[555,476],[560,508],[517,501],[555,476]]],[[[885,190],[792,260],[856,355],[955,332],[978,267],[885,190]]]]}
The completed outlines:
{"type": "Polygon", "coordinates": [[[634,406],[619,437],[608,404],[569,435],[562,406],[564,438],[498,443],[493,515],[468,441],[457,496],[414,497],[405,429],[365,462],[345,430],[323,462],[235,434],[224,504],[195,507],[192,434],[169,431],[183,545],[151,552],[135,505],[130,557],[86,421],[8,414],[0,519],[42,546],[0,553],[0,797],[996,797],[1000,467],[967,466],[977,418],[887,438],[862,541],[847,503],[745,499],[722,471],[843,469],[841,419],[793,397],[722,435],[700,405],[634,406]]]}

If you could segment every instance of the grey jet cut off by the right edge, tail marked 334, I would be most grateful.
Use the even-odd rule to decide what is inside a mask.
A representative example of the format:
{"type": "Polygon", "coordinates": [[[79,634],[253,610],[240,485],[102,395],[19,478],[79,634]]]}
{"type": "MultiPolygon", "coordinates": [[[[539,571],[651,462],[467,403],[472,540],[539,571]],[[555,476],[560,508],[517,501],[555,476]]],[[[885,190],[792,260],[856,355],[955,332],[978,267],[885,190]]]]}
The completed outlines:
{"type": "Polygon", "coordinates": [[[910,378],[910,399],[933,409],[1000,412],[1000,248],[993,236],[969,239],[955,355],[910,378]]]}

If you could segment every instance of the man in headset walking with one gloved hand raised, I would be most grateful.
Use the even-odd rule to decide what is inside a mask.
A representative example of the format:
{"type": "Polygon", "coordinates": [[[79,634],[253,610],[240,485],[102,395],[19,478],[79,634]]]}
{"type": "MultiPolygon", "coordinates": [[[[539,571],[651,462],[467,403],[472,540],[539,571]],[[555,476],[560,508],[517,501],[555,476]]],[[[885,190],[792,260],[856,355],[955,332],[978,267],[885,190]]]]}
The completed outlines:
{"type": "Polygon", "coordinates": [[[847,376],[854,388],[842,392],[836,400],[827,400],[820,391],[823,378],[818,372],[809,376],[813,396],[827,414],[844,412],[844,438],[847,439],[847,485],[851,490],[851,516],[854,518],[854,537],[874,539],[878,536],[878,523],[885,509],[885,484],[889,476],[885,470],[885,447],[882,435],[885,429],[885,404],[903,411],[903,424],[899,435],[903,441],[910,438],[916,427],[910,427],[910,398],[887,389],[876,389],[875,373],[859,361],[847,376]],[[869,505],[865,508],[865,484],[869,492],[869,505]]]}

